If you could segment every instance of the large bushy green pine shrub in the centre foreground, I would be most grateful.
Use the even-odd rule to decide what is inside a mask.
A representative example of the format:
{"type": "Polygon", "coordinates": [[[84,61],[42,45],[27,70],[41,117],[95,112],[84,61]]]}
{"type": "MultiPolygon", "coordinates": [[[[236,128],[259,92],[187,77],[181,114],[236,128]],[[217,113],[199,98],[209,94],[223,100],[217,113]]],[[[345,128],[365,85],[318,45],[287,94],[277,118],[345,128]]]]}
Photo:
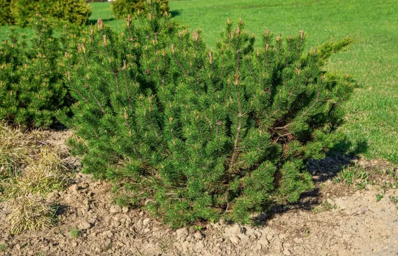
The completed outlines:
{"type": "Polygon", "coordinates": [[[73,118],[59,115],[84,171],[119,182],[130,203],[174,228],[248,223],[311,190],[306,161],[342,138],[354,87],[324,64],[352,39],[304,51],[302,31],[267,30],[255,49],[244,22],[227,20],[212,51],[200,30],[175,32],[148,4],[121,35],[99,20],[67,73],[77,103],[73,118]]]}

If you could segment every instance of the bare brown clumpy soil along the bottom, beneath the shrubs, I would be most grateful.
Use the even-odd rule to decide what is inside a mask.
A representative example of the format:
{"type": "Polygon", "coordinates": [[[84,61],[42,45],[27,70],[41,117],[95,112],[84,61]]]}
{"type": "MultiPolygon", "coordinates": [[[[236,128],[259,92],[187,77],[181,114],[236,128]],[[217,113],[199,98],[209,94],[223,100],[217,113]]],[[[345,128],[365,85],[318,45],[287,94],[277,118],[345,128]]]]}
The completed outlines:
{"type": "MultiPolygon", "coordinates": [[[[64,140],[71,133],[48,135],[46,143],[65,150],[64,140]]],[[[380,191],[379,186],[366,185],[354,192],[333,182],[339,166],[352,161],[394,167],[386,161],[341,156],[311,162],[316,188],[298,204],[258,216],[262,224],[258,227],[221,222],[203,224],[201,230],[174,231],[144,211],[112,205],[110,183],[77,173],[67,190],[48,195],[48,200],[60,205],[59,225],[49,230],[10,235],[6,223],[10,209],[0,203],[0,245],[6,245],[0,255],[397,256],[398,205],[389,196],[398,197],[398,189],[380,191]],[[377,202],[376,195],[381,193],[384,197],[377,202]],[[79,229],[79,237],[71,238],[70,229],[79,229]]]]}

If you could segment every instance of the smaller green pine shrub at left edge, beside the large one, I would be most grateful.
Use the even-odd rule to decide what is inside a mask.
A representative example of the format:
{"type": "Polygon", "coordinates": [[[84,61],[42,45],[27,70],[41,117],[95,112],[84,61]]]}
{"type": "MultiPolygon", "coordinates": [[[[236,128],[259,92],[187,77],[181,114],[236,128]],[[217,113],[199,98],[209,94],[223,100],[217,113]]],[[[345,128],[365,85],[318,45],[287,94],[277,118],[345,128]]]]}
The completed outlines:
{"type": "Polygon", "coordinates": [[[74,41],[66,39],[70,37],[67,30],[62,33],[65,39],[55,38],[39,15],[32,25],[36,33],[29,42],[11,29],[9,39],[0,46],[0,120],[48,127],[54,111],[64,105],[62,55],[74,41]]]}

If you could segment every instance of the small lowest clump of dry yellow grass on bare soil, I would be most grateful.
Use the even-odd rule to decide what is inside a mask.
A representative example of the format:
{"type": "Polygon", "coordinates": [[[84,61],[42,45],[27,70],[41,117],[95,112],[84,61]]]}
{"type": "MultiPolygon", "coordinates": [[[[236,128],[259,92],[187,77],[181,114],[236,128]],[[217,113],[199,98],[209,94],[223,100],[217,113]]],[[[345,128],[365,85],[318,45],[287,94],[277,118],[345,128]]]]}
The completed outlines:
{"type": "Polygon", "coordinates": [[[7,220],[11,224],[11,234],[26,230],[47,229],[55,225],[57,208],[39,195],[23,195],[11,200],[12,212],[7,220]]]}

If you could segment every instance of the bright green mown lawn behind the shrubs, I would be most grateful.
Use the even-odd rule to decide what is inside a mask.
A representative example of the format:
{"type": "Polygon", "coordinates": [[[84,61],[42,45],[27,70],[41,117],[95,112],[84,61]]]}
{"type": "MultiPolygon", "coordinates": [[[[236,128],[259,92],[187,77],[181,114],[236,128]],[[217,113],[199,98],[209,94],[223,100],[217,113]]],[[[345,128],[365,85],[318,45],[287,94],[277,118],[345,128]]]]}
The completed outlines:
{"type": "MultiPolygon", "coordinates": [[[[123,21],[113,19],[108,2],[91,5],[93,22],[102,18],[121,31],[123,21]]],[[[397,0],[171,0],[170,9],[191,30],[200,27],[210,48],[227,17],[242,17],[257,38],[266,29],[284,35],[304,30],[308,47],[354,36],[358,42],[329,63],[331,70],[352,74],[359,85],[346,105],[347,142],[365,157],[398,163],[397,0]]],[[[1,39],[8,28],[0,27],[1,39]]]]}

